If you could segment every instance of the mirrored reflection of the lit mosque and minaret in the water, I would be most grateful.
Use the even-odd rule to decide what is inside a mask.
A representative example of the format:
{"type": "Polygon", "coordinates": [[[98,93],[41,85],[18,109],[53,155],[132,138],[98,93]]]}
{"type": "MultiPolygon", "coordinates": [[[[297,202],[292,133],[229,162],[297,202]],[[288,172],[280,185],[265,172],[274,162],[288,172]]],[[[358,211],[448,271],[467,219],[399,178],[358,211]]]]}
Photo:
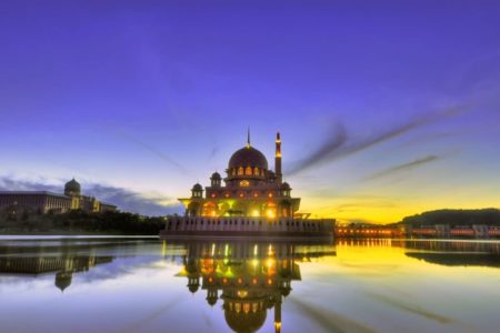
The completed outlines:
{"type": "Polygon", "coordinates": [[[297,261],[310,256],[334,255],[332,246],[308,252],[294,244],[191,243],[183,256],[188,289],[207,291],[213,306],[222,301],[224,319],[234,332],[256,332],[266,322],[267,311],[274,312],[274,331],[281,331],[281,304],[300,281],[297,261]],[[220,296],[219,296],[220,295],[220,296]]]}

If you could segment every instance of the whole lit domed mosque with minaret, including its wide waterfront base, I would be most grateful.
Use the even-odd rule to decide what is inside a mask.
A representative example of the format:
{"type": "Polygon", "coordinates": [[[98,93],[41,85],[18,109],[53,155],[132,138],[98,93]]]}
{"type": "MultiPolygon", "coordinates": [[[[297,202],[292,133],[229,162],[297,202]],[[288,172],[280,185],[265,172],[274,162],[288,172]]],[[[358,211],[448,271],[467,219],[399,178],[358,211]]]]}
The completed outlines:
{"type": "Polygon", "coordinates": [[[251,145],[249,132],[247,144],[229,159],[226,176],[214,172],[210,186],[194,184],[190,198],[179,199],[184,215],[169,216],[160,236],[331,241],[334,220],[300,214],[300,198],[293,198],[291,190],[283,182],[280,133],[272,171],[264,154],[251,145]]]}

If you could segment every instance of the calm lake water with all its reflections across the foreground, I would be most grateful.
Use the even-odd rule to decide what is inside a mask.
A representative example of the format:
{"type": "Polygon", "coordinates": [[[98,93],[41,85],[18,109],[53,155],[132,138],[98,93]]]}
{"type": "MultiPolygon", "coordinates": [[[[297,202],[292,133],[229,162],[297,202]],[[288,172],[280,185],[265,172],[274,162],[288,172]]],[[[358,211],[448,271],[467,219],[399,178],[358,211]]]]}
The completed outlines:
{"type": "Polygon", "coordinates": [[[499,327],[499,242],[0,236],[0,332],[499,327]]]}

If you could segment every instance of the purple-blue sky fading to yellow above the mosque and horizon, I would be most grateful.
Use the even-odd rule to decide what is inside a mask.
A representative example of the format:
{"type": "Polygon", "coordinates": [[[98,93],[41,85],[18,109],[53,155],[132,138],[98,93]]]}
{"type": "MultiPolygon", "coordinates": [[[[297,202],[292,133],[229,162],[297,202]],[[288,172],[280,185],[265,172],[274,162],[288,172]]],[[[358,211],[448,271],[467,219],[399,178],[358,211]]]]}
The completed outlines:
{"type": "Polygon", "coordinates": [[[0,3],[0,186],[168,204],[250,127],[303,212],[500,205],[498,1],[208,2],[0,3]]]}

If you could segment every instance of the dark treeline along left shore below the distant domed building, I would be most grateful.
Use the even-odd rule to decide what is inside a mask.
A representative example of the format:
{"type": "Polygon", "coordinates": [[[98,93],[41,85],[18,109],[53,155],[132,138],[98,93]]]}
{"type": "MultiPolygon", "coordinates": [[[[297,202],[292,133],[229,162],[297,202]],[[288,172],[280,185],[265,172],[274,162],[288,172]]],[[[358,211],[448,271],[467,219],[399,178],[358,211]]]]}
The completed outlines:
{"type": "Polygon", "coordinates": [[[96,233],[157,235],[164,228],[163,218],[148,218],[123,212],[28,214],[0,216],[0,233],[96,233]]]}

